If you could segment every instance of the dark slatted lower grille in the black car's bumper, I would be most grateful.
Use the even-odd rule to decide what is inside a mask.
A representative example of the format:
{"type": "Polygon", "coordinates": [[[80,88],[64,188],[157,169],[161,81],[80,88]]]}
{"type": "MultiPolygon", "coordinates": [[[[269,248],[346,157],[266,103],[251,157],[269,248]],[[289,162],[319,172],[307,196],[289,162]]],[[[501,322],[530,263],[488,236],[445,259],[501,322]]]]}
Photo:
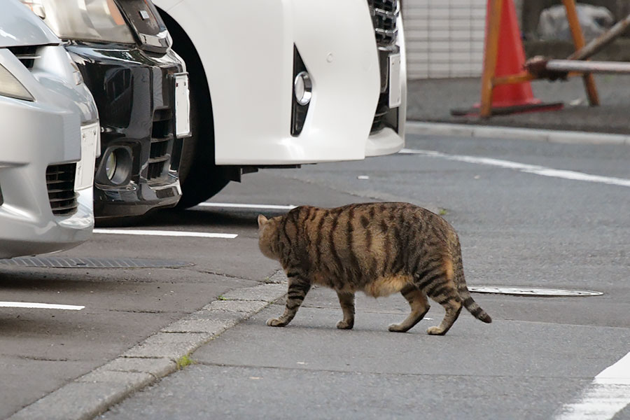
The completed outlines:
{"type": "Polygon", "coordinates": [[[148,183],[159,183],[167,178],[173,149],[173,112],[158,109],[153,113],[151,151],[149,152],[146,179],[148,183]]]}

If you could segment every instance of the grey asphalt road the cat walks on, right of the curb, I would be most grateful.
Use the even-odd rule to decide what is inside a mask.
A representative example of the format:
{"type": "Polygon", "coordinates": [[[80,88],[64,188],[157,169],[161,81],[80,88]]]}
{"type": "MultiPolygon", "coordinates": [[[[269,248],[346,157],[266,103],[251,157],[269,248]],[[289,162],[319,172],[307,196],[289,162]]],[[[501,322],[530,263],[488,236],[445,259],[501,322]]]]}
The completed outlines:
{"type": "MultiPolygon", "coordinates": [[[[630,179],[630,149],[622,145],[410,136],[407,148],[630,179]]],[[[630,350],[627,187],[392,155],[265,171],[216,200],[238,200],[240,188],[262,188],[258,181],[265,179],[295,181],[305,193],[324,189],[307,202],[369,197],[440,211],[459,232],[470,285],[604,295],[475,294],[493,323],[464,311],[446,336],[430,337],[425,329],[443,313],[437,304],[426,315],[432,319],[397,334],[386,328],[405,317],[404,300],[359,294],[355,328],[342,331],[335,328],[341,316],[335,294],[316,288],[288,327],[265,325],[281,312],[280,300],[201,346],[193,365],[102,418],[551,419],[630,350]]],[[[629,418],[630,406],[615,416],[629,418]]]]}

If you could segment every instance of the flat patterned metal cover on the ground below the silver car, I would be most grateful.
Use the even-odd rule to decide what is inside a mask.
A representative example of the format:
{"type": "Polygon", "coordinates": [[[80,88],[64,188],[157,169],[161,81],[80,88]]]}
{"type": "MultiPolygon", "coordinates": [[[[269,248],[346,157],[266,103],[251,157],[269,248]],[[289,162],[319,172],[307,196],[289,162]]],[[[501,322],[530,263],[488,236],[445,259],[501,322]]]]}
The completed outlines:
{"type": "Polygon", "coordinates": [[[0,260],[3,265],[47,268],[159,268],[187,267],[191,262],[176,260],[151,260],[148,258],[66,258],[20,257],[0,260]]]}

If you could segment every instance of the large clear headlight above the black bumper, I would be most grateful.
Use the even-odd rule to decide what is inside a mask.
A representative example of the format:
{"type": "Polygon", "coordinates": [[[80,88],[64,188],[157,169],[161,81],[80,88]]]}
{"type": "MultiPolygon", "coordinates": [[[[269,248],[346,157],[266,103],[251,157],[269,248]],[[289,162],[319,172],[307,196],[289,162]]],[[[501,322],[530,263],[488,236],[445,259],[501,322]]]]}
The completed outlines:
{"type": "Polygon", "coordinates": [[[134,43],[114,0],[21,0],[59,38],[134,43]]]}

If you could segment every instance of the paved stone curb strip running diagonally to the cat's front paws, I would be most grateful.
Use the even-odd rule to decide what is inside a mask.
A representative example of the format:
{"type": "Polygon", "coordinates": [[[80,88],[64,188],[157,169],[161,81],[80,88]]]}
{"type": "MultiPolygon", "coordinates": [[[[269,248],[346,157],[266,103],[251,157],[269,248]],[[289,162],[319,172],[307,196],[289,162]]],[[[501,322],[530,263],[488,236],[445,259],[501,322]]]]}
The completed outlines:
{"type": "Polygon", "coordinates": [[[8,420],[93,419],[181,367],[179,360],[286,295],[282,270],[256,286],[232,290],[162,328],[117,358],[20,409],[8,420]]]}

